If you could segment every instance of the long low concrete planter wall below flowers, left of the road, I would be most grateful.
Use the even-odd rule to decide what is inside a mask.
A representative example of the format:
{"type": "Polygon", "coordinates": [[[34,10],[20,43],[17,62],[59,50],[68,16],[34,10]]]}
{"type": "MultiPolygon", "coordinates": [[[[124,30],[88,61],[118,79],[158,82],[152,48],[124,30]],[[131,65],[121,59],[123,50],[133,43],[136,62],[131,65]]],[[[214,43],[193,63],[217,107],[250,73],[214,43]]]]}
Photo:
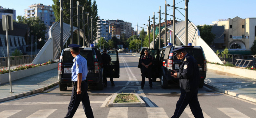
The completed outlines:
{"type": "MultiPolygon", "coordinates": [[[[30,69],[18,70],[11,72],[11,81],[17,80],[23,77],[27,77],[33,74],[44,72],[47,70],[58,68],[58,63],[48,64],[30,69]]],[[[9,73],[0,74],[0,84],[9,82],[9,73]]]]}

